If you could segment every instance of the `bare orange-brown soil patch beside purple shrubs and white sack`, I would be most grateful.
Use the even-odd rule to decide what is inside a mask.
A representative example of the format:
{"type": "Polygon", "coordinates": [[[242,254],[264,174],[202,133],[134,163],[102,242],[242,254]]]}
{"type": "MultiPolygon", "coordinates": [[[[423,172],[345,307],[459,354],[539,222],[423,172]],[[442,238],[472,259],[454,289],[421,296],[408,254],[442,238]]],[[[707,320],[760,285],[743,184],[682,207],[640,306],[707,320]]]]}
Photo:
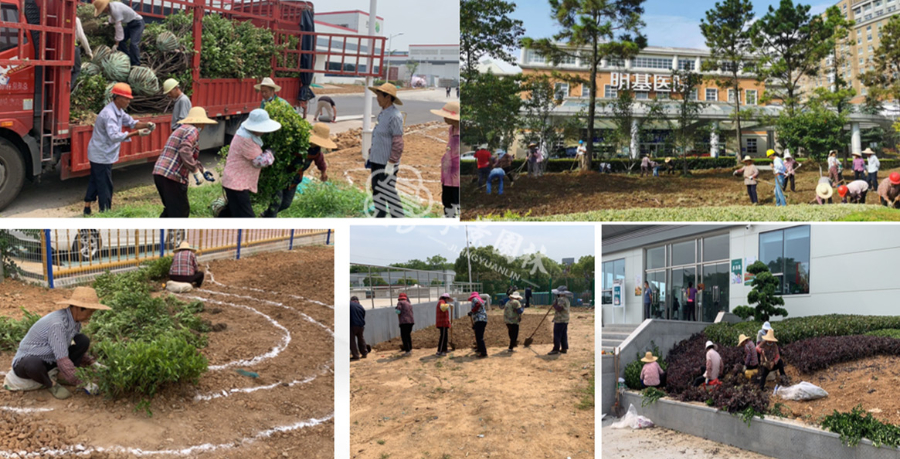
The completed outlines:
{"type": "MultiPolygon", "coordinates": [[[[896,387],[900,384],[900,357],[866,358],[808,375],[801,375],[790,365],[785,371],[795,384],[807,381],[828,392],[828,397],[805,402],[772,397],[771,405],[777,402],[790,408],[790,417],[810,424],[818,423],[821,417],[834,410],[849,412],[862,404],[863,410],[871,412],[876,419],[900,424],[900,399],[895,397],[896,387]]],[[[774,389],[774,383],[769,382],[768,387],[774,389]]]]}

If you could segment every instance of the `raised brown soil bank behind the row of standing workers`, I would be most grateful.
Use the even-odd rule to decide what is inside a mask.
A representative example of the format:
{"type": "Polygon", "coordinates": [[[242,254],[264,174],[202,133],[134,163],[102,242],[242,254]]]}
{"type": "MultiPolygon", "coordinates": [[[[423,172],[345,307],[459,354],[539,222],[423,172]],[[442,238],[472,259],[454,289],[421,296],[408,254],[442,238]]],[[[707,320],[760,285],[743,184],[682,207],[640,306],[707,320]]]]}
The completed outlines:
{"type": "MultiPolygon", "coordinates": [[[[541,322],[544,313],[525,314],[522,316],[522,322],[519,324],[519,346],[525,345],[525,339],[535,331],[541,322]]],[[[570,311],[571,320],[579,320],[578,312],[575,308],[570,311]]],[[[570,325],[571,327],[571,325],[570,325]]],[[[437,349],[437,341],[440,332],[435,327],[428,327],[412,334],[414,349],[437,349]]],[[[456,343],[457,349],[467,348],[475,344],[475,331],[472,330],[471,321],[468,317],[463,317],[453,321],[453,342],[456,343]]],[[[509,346],[509,333],[506,329],[506,322],[503,321],[502,312],[491,312],[488,314],[488,326],[484,330],[484,342],[487,347],[507,347],[509,346]]],[[[400,337],[390,341],[379,343],[373,346],[374,350],[392,351],[400,350],[402,345],[400,337]]],[[[534,334],[534,343],[532,344],[553,344],[553,314],[547,316],[547,320],[537,329],[534,334]]]]}

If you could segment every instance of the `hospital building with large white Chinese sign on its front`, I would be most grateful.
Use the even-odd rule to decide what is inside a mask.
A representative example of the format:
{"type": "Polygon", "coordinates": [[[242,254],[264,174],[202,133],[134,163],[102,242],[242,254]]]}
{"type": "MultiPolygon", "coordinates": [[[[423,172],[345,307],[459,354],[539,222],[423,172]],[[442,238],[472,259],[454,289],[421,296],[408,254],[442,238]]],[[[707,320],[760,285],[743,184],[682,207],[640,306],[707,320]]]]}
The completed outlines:
{"type": "MultiPolygon", "coordinates": [[[[900,0],[898,0],[900,1],[900,0]]],[[[709,59],[709,51],[690,48],[669,48],[649,46],[633,59],[604,59],[597,69],[597,97],[601,103],[609,102],[617,97],[618,91],[634,91],[637,100],[668,100],[673,89],[678,85],[677,78],[673,77],[675,70],[692,71],[704,75],[703,83],[694,91],[691,98],[704,103],[704,108],[699,116],[701,123],[713,125],[713,131],[734,130],[731,113],[734,110],[734,90],[719,87],[715,82],[717,74],[723,74],[723,70],[712,72],[703,71],[704,61],[709,59]]],[[[590,76],[590,68],[581,59],[571,57],[559,65],[554,66],[547,58],[541,56],[532,49],[523,49],[520,56],[519,67],[524,75],[550,74],[552,71],[578,74],[587,79],[590,76]]],[[[765,89],[764,84],[757,81],[753,73],[753,61],[748,59],[741,66],[740,72],[740,97],[742,106],[756,108],[757,113],[773,114],[773,107],[762,104],[760,98],[765,89]]],[[[590,86],[587,84],[571,85],[566,82],[556,83],[557,94],[563,100],[558,112],[561,114],[574,114],[582,110],[590,96],[590,86]]],[[[601,113],[600,118],[609,117],[609,113],[601,113]]],[[[601,130],[605,126],[602,122],[598,126],[601,130]]],[[[737,147],[734,135],[725,135],[719,138],[711,135],[708,151],[695,152],[717,156],[720,151],[719,142],[724,142],[724,150],[729,154],[735,154],[739,149],[741,154],[759,156],[765,154],[768,148],[774,145],[773,133],[770,130],[755,129],[758,124],[752,119],[742,121],[741,145],[737,147]]],[[[667,156],[671,152],[671,145],[666,146],[664,141],[666,130],[662,129],[660,135],[652,136],[653,139],[641,141],[630,148],[630,154],[651,154],[654,156],[667,156]]],[[[602,135],[602,134],[601,134],[602,135]]],[[[602,138],[595,138],[596,143],[602,143],[602,138]]]]}

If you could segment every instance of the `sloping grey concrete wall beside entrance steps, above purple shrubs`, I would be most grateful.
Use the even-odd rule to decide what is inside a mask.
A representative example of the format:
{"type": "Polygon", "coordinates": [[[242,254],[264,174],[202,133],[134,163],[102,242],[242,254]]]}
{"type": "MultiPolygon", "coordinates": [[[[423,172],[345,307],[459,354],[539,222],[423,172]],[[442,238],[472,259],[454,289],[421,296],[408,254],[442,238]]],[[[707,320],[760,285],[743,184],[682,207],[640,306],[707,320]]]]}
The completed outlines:
{"type": "MultiPolygon", "coordinates": [[[[651,343],[659,347],[660,358],[678,342],[690,338],[694,333],[702,332],[711,324],[707,322],[684,322],[680,320],[647,319],[619,346],[619,374],[616,375],[612,356],[601,359],[602,379],[600,385],[601,413],[608,413],[616,402],[616,381],[625,377],[625,367],[635,360],[636,355],[643,357],[652,351],[651,343]]],[[[626,405],[627,408],[627,405],[626,405]]]]}

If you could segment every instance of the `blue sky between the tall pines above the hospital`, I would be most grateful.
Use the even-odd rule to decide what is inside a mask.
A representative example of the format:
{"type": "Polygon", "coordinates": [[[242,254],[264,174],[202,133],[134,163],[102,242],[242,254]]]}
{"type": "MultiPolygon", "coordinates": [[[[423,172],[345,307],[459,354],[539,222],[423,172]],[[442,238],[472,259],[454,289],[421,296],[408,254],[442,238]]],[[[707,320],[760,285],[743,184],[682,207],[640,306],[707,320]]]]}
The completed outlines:
{"type": "MultiPolygon", "coordinates": [[[[721,1],[721,0],[720,0],[721,1]]],[[[550,4],[546,0],[515,0],[516,12],[512,16],[524,23],[525,36],[550,37],[558,31],[550,19],[550,4]]],[[[778,6],[779,0],[753,1],[756,17],[762,17],[769,5],[778,6]]],[[[836,3],[821,0],[794,2],[813,5],[814,14],[822,13],[836,3]]],[[[705,48],[700,34],[700,19],[713,8],[715,0],[647,0],[644,2],[644,34],[650,46],[676,46],[705,48]]]]}

